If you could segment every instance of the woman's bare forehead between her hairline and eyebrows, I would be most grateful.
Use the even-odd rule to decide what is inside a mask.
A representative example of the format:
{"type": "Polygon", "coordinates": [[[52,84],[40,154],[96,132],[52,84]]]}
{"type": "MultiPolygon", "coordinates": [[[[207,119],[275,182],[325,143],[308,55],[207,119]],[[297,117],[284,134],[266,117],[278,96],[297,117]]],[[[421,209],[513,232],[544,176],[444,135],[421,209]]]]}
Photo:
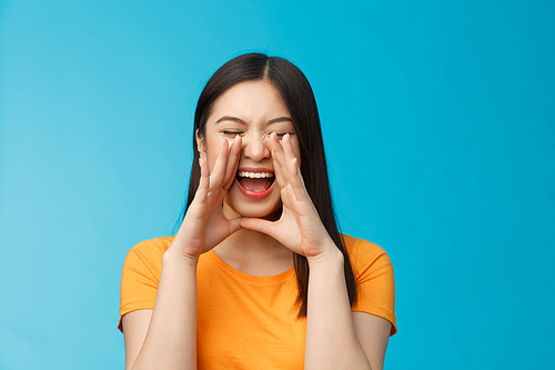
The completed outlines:
{"type": "Polygon", "coordinates": [[[228,89],[214,102],[210,120],[233,116],[246,122],[275,117],[290,117],[278,88],[270,81],[248,81],[228,89]]]}

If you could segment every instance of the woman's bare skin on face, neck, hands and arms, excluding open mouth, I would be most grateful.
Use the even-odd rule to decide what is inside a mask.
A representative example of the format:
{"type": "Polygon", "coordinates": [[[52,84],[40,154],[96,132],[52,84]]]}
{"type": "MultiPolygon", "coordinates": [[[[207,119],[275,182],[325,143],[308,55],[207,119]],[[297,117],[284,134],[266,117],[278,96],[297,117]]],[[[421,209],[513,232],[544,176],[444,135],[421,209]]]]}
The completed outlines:
{"type": "Polygon", "coordinates": [[[391,323],[351,312],[343,256],[306,193],[287,118],[268,81],[239,83],[216,100],[198,137],[200,186],[163,257],[154,310],[123,317],[127,369],[196,368],[196,263],[211,249],[253,276],[290,269],[292,252],[306,256],[305,369],[383,368],[391,323]],[[253,200],[239,191],[235,173],[242,167],[275,172],[269,197],[253,200]]]}

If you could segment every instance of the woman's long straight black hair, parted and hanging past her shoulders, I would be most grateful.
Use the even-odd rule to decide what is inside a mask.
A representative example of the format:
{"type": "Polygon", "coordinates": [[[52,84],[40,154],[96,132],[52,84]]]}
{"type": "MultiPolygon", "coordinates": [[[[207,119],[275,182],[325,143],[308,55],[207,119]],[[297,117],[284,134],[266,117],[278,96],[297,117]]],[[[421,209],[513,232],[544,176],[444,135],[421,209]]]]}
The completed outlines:
{"type": "MultiPolygon", "coordinates": [[[[306,77],[290,61],[279,57],[268,57],[261,53],[248,53],[239,56],[225,64],[206,82],[201,92],[196,111],[194,113],[193,128],[193,166],[189,180],[189,196],[183,218],[189,206],[193,201],[201,169],[199,166],[199,151],[196,147],[198,132],[200,138],[205,134],[206,121],[212,113],[215,100],[231,87],[245,81],[271,81],[280,91],[289,113],[293,120],[295,132],[301,147],[301,173],[303,176],[306,191],[316,208],[322,223],[327,233],[342,251],[344,257],[345,281],[351,306],[356,302],[356,284],[353,269],[346,252],[343,238],[339,232],[335,213],[333,211],[330,181],[327,179],[327,166],[325,162],[324,141],[320,127],[316,101],[306,77]]],[[[304,256],[294,254],[294,267],[299,296],[299,318],[306,317],[309,301],[309,261],[304,256]]]]}

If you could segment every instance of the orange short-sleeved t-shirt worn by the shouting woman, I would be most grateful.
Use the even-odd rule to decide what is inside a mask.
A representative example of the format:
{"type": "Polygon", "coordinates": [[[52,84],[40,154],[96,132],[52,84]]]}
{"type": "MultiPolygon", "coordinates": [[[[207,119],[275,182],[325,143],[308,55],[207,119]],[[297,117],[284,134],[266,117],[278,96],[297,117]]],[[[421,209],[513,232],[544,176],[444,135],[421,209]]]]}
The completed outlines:
{"type": "MultiPolygon", "coordinates": [[[[359,301],[352,311],[392,323],[395,291],[390,258],[379,246],[343,236],[356,278],[359,301]]],[[[162,256],[173,237],[147,240],[125,258],[121,278],[121,318],[153,309],[162,256]]],[[[296,319],[294,269],[276,276],[241,272],[214,251],[202,254],[198,270],[198,369],[303,369],[306,319],[296,319]]]]}

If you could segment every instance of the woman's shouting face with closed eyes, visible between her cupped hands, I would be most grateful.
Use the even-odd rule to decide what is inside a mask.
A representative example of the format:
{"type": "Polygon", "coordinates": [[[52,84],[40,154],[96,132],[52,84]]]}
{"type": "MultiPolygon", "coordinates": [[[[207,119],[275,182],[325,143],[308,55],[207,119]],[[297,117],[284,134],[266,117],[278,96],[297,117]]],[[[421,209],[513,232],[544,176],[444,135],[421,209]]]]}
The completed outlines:
{"type": "Polygon", "coordinates": [[[290,133],[293,152],[301,162],[299,139],[289,110],[274,84],[266,80],[241,82],[214,102],[198,149],[212,171],[222,138],[231,146],[235,136],[242,138],[241,158],[235,181],[224,201],[228,218],[266,217],[281,207],[280,188],[275,181],[269,138],[290,133]]]}

